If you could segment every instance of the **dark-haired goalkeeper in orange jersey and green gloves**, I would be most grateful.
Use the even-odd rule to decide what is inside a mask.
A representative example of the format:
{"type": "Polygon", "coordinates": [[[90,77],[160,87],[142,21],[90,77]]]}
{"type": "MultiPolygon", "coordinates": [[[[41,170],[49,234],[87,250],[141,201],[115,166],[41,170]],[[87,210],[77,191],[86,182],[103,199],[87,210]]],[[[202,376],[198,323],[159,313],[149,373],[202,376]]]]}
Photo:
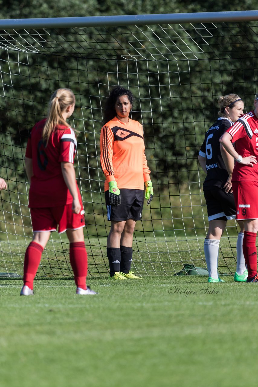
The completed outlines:
{"type": "Polygon", "coordinates": [[[145,199],[153,197],[150,170],[145,157],[142,125],[131,120],[130,90],[117,86],[106,102],[101,129],[101,168],[106,177],[104,190],[111,229],[107,241],[110,277],[138,279],[131,271],[133,231],[142,218],[145,199]]]}

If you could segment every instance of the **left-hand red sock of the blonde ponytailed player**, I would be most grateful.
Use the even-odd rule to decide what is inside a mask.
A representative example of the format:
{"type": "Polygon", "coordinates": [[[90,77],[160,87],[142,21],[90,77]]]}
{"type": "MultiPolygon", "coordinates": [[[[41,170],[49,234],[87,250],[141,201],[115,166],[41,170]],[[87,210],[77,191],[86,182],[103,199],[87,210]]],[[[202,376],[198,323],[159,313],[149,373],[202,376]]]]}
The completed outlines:
{"type": "Polygon", "coordinates": [[[39,267],[44,248],[36,242],[31,242],[27,247],[24,257],[23,283],[33,289],[33,281],[39,267]]]}

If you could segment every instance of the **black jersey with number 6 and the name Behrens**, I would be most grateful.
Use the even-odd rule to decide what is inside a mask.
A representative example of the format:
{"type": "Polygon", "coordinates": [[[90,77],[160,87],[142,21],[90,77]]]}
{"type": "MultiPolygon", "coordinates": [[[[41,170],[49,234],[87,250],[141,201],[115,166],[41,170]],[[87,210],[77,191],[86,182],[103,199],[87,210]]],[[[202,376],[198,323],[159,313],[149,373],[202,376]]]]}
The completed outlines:
{"type": "Polygon", "coordinates": [[[228,173],[221,156],[219,139],[234,122],[228,118],[220,117],[207,130],[199,155],[206,158],[207,176],[203,187],[221,187],[227,181],[228,173]]]}

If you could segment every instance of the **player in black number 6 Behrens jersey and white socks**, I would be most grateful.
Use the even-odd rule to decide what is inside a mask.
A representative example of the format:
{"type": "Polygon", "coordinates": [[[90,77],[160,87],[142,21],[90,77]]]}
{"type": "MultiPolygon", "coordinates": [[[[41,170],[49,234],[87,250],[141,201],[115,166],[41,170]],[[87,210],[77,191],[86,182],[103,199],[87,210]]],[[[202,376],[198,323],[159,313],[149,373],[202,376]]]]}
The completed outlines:
{"type": "MultiPolygon", "coordinates": [[[[218,256],[220,238],[227,220],[235,219],[236,207],[232,194],[232,172],[234,158],[220,146],[219,139],[243,115],[244,103],[237,94],[228,94],[218,99],[219,118],[207,130],[198,160],[207,174],[203,193],[207,204],[209,228],[204,241],[204,253],[209,272],[208,282],[223,282],[218,277],[218,256]]],[[[237,267],[234,280],[244,282],[248,276],[243,255],[244,225],[237,237],[237,267]]]]}

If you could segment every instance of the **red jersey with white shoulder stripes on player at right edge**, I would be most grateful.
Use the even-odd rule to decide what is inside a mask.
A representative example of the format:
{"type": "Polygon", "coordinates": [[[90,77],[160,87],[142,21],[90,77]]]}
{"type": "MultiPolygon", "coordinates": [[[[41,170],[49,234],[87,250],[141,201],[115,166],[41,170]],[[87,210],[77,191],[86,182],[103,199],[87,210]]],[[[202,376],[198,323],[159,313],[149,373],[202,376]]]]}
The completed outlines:
{"type": "MultiPolygon", "coordinates": [[[[258,118],[254,111],[244,114],[226,132],[232,136],[232,142],[240,156],[256,156],[258,161],[258,118]]],[[[258,164],[251,167],[236,162],[232,182],[237,181],[258,182],[258,164]]]]}

